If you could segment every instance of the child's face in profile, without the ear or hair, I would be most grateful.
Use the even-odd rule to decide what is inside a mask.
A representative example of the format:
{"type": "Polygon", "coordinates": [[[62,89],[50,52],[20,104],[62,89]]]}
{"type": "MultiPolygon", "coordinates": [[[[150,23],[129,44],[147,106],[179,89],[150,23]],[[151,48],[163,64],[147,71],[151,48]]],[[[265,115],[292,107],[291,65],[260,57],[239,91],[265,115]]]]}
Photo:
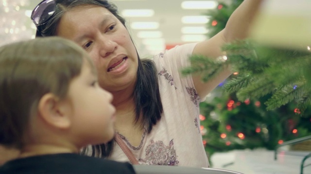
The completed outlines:
{"type": "Polygon", "coordinates": [[[110,141],[115,133],[115,107],[112,95],[98,85],[97,75],[84,62],[79,76],[69,85],[68,99],[72,116],[72,138],[77,142],[101,144],[110,141]]]}

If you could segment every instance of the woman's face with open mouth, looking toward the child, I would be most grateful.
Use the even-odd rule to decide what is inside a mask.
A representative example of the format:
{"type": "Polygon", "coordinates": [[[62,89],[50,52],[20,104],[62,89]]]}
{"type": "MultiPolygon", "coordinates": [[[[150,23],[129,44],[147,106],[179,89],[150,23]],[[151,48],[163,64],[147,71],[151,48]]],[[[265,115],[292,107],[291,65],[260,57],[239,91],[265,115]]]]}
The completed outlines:
{"type": "Polygon", "coordinates": [[[93,59],[99,84],[114,92],[136,82],[138,55],[122,23],[100,6],[79,6],[66,12],[57,35],[81,45],[93,59]]]}

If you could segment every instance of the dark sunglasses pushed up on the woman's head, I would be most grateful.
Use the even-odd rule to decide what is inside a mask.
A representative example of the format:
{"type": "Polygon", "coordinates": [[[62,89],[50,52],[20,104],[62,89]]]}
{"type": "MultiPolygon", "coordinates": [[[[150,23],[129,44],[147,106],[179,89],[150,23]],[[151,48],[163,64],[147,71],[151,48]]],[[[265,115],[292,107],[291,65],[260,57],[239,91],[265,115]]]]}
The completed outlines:
{"type": "Polygon", "coordinates": [[[40,26],[47,23],[55,13],[55,9],[55,0],[43,0],[40,2],[31,14],[31,19],[33,20],[35,26],[40,26]]]}

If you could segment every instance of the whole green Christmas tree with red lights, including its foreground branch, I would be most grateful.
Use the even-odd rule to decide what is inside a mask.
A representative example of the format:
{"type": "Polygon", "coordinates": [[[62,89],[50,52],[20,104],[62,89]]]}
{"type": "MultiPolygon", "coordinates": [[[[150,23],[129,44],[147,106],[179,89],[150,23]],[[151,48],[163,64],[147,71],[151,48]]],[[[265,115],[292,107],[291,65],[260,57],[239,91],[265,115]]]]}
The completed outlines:
{"type": "MultiPolygon", "coordinates": [[[[242,3],[220,3],[207,24],[209,37],[225,27],[242,3]]],[[[274,149],[284,141],[311,135],[310,47],[289,49],[252,40],[223,47],[225,59],[193,56],[183,73],[213,78],[224,65],[233,74],[200,104],[203,143],[209,157],[233,149],[274,149]]]]}

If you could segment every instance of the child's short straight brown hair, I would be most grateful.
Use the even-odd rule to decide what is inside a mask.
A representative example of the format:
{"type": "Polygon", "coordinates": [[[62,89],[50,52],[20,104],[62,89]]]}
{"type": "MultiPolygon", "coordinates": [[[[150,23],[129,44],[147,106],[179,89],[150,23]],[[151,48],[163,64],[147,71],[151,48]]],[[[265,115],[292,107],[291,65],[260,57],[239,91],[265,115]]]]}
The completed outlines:
{"type": "Polygon", "coordinates": [[[0,47],[0,144],[21,148],[43,95],[66,97],[71,79],[92,62],[75,43],[37,38],[0,47]]]}

